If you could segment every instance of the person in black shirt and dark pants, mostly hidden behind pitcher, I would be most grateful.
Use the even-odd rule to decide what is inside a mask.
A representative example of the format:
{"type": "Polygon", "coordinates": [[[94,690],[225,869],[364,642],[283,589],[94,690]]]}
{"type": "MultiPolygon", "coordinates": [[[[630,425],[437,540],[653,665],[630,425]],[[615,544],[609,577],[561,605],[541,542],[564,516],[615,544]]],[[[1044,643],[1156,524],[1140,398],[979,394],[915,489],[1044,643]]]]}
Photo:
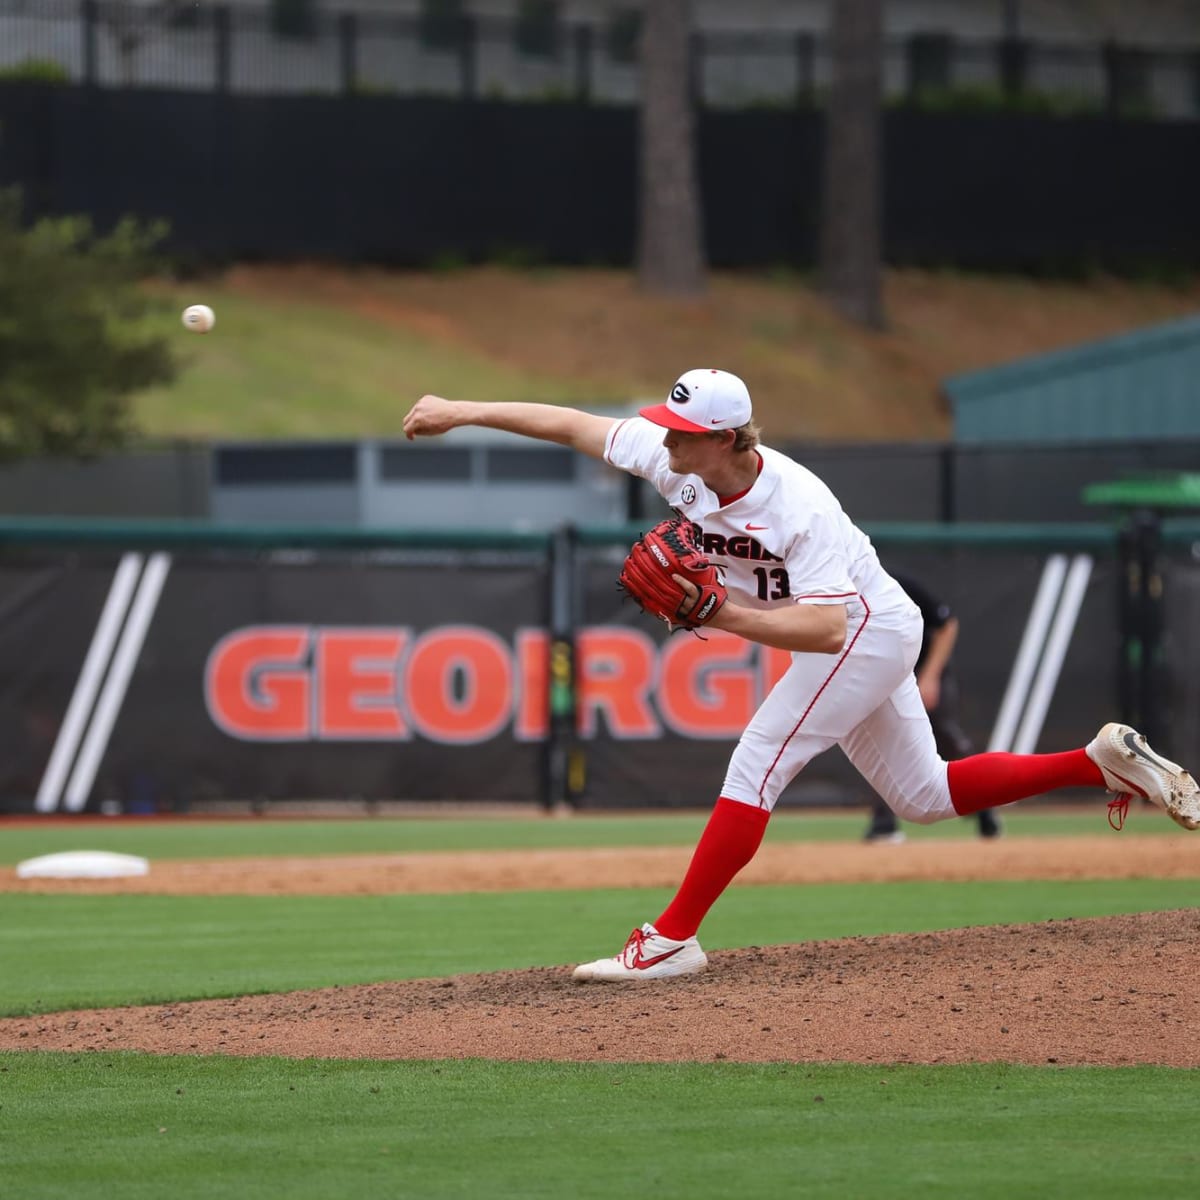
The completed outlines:
{"type": "MultiPolygon", "coordinates": [[[[946,760],[965,758],[972,752],[971,738],[967,737],[958,718],[958,682],[950,670],[950,656],[959,636],[959,619],[950,606],[937,599],[928,588],[912,576],[900,571],[888,572],[912,598],[920,610],[923,622],[920,653],[913,668],[917,676],[917,688],[929,713],[929,724],[934,727],[938,754],[946,760]]],[[[1000,821],[991,809],[977,814],[980,838],[1000,835],[1000,821]]],[[[874,797],[871,804],[871,823],[866,829],[865,841],[904,841],[896,815],[880,797],[874,797]]]]}

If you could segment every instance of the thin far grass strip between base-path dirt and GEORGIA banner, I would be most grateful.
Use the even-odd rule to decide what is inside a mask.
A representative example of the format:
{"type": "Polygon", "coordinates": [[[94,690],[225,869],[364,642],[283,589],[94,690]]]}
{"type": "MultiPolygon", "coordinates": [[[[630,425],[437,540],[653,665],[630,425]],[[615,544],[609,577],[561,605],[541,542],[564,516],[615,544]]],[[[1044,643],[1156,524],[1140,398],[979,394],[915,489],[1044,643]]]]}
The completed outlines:
{"type": "MultiPolygon", "coordinates": [[[[1136,833],[1187,836],[1160,812],[1134,814],[1136,833]]],[[[461,850],[553,850],[606,846],[690,846],[708,812],[550,817],[360,817],[355,820],[55,822],[13,826],[0,832],[0,865],[67,850],[108,850],[154,859],[274,858],[320,854],[385,854],[461,850]]],[[[1056,838],[1108,829],[1104,806],[1078,812],[1013,809],[1003,814],[1012,838],[1056,838]]],[[[847,814],[776,812],[770,841],[857,841],[866,830],[866,809],[847,814]]],[[[972,839],[973,820],[905,826],[924,839],[972,839]]],[[[1134,826],[1130,826],[1133,829],[1134,826]]],[[[1112,834],[1114,838],[1117,834],[1112,834]]]]}

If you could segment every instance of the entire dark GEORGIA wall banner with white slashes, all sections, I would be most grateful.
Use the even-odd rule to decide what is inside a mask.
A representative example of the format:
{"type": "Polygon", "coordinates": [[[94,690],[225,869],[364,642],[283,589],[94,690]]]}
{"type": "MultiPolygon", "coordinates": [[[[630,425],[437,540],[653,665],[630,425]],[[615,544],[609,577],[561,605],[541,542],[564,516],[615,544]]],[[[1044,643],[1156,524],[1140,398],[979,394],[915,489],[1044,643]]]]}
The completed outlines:
{"type": "MultiPolygon", "coordinates": [[[[574,797],[707,806],[790,659],[716,631],[667,635],[614,588],[623,554],[576,559],[574,797]]],[[[1078,746],[1118,715],[1115,559],[972,547],[884,560],[961,622],[961,716],[978,749],[1078,746]]],[[[553,799],[548,572],[540,553],[6,553],[0,810],[553,799]]],[[[1190,564],[1169,576],[1169,631],[1194,580],[1190,564]]],[[[1172,637],[1190,644],[1186,629],[1172,637]]],[[[1162,749],[1194,761],[1175,678],[1162,749]]],[[[782,803],[859,797],[833,750],[782,803]]]]}

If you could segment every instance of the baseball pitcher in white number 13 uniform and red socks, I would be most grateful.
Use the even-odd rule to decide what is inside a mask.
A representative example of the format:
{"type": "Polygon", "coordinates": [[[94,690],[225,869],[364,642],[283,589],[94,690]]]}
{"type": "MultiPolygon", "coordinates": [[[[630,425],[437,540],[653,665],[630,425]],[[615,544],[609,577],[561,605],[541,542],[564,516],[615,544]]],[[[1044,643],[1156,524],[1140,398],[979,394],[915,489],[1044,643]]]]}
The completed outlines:
{"type": "Polygon", "coordinates": [[[640,539],[622,587],[672,626],[722,629],[792,656],[738,740],[672,901],[614,958],[577,966],[576,979],[703,971],[701,922],[757,852],[786,785],[834,744],[905,821],[944,821],[1093,786],[1114,793],[1109,820],[1118,828],[1132,796],[1186,829],[1200,827],[1192,776],[1124,725],[1105,725],[1088,745],[1060,754],[943,760],[913,676],[920,612],[833,492],[760,444],[750,392],[737,376],[686,371],[664,403],[626,420],[424,396],[404,418],[404,433],[463,425],[571,446],[648,480],[677,517],[640,539]]]}

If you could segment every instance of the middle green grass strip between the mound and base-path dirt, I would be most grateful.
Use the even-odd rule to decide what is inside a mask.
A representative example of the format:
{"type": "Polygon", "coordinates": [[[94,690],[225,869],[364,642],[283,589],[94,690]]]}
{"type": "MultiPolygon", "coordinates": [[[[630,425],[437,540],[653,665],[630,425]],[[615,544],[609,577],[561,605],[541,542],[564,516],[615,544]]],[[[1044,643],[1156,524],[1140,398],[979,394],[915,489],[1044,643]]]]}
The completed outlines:
{"type": "MultiPolygon", "coordinates": [[[[294,991],[616,954],[668,889],[386,896],[0,895],[0,1014],[294,991]]],[[[734,887],[709,950],[1181,908],[1192,880],[734,887]]]]}

